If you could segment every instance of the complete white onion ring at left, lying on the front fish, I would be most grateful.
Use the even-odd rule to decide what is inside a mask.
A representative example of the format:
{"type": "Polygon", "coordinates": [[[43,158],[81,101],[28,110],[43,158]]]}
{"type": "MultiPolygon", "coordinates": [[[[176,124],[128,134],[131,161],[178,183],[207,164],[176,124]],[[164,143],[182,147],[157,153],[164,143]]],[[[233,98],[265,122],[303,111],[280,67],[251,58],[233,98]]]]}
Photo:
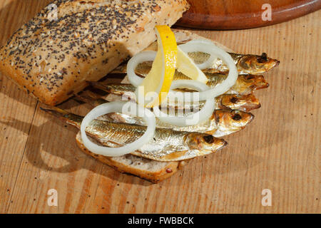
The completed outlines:
{"type": "Polygon", "coordinates": [[[81,138],[83,140],[83,145],[85,145],[85,147],[91,152],[108,157],[118,157],[138,150],[143,145],[148,143],[153,138],[155,130],[156,118],[150,110],[143,108],[141,105],[137,105],[133,102],[114,101],[93,108],[93,110],[91,110],[85,116],[85,118],[83,118],[83,121],[81,123],[81,138]],[[126,107],[128,108],[128,106],[126,105],[136,105],[136,108],[131,108],[130,111],[127,111],[125,110],[126,107]],[[103,147],[91,142],[91,140],[88,139],[86,135],[86,127],[91,123],[92,120],[95,120],[99,116],[105,115],[107,113],[126,113],[131,115],[137,115],[137,111],[139,114],[143,113],[143,120],[145,120],[146,122],[147,130],[143,134],[143,136],[141,136],[141,138],[138,138],[138,140],[136,140],[135,142],[131,142],[130,144],[124,145],[122,147],[103,147]]]}

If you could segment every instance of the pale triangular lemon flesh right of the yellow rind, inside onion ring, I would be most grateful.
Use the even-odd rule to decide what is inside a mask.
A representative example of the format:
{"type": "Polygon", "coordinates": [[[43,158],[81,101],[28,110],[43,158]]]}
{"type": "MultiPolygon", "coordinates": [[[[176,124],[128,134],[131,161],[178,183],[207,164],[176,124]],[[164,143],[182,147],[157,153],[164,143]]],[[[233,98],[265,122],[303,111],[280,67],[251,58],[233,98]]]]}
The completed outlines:
{"type": "Polygon", "coordinates": [[[196,66],[188,54],[182,51],[180,47],[178,47],[177,53],[177,71],[185,74],[185,76],[188,76],[188,78],[192,80],[205,84],[208,83],[208,78],[205,76],[203,71],[200,71],[200,68],[196,66]]]}

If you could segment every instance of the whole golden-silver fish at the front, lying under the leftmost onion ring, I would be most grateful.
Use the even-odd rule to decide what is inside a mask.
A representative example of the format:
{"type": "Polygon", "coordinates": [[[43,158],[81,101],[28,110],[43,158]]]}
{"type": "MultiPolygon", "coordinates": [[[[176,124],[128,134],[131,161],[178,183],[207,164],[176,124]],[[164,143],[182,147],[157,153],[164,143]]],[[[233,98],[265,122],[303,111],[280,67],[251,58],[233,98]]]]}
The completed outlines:
{"type": "MultiPolygon", "coordinates": [[[[83,117],[68,113],[59,108],[49,112],[61,120],[80,128],[83,117]]],[[[120,147],[141,138],[146,126],[128,123],[111,123],[106,120],[93,120],[86,128],[86,133],[108,147],[120,147]]],[[[225,147],[227,142],[206,133],[190,133],[167,128],[156,128],[153,139],[140,150],[131,154],[163,162],[188,160],[193,157],[208,155],[225,147]]]]}

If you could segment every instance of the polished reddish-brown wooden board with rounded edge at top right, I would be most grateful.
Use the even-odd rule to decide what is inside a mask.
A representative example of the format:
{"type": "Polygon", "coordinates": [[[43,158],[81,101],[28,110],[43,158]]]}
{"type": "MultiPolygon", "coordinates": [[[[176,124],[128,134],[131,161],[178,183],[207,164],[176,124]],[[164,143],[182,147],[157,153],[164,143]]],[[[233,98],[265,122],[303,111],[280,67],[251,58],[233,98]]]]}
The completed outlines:
{"type": "Polygon", "coordinates": [[[270,26],[321,9],[321,0],[188,0],[190,10],[178,26],[241,29],[270,26]],[[271,17],[268,18],[270,4],[271,17]]]}

